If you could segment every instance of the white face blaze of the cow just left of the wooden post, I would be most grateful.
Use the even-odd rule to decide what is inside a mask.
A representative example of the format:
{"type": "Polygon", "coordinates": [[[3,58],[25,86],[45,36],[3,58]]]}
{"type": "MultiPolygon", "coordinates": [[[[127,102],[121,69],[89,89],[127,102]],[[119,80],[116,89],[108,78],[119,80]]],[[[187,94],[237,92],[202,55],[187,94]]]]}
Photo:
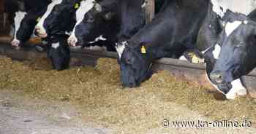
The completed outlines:
{"type": "Polygon", "coordinates": [[[75,46],[75,44],[78,42],[78,38],[75,36],[75,28],[83,21],[84,15],[86,15],[86,13],[94,7],[94,4],[94,0],[86,0],[80,2],[80,7],[75,12],[77,22],[75,23],[72,33],[69,36],[69,39],[67,39],[69,45],[75,46]]]}

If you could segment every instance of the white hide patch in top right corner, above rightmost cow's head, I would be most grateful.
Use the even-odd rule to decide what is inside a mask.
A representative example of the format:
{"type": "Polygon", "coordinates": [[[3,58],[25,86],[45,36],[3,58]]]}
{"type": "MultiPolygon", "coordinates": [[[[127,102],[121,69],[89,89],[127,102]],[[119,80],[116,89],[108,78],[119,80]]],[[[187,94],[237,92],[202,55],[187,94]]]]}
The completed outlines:
{"type": "Polygon", "coordinates": [[[249,15],[255,9],[255,0],[246,0],[243,2],[241,0],[211,0],[211,4],[213,4],[213,11],[220,17],[225,15],[227,9],[244,15],[249,15]]]}

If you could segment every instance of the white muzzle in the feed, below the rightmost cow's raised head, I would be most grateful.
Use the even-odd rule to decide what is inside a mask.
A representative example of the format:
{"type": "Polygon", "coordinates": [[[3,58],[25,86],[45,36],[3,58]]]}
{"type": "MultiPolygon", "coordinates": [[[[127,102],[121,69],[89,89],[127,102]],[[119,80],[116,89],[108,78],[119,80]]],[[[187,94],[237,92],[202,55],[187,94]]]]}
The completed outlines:
{"type": "Polygon", "coordinates": [[[241,79],[236,79],[233,82],[231,82],[232,88],[230,92],[226,94],[226,98],[233,100],[236,98],[236,96],[244,96],[247,94],[246,88],[241,83],[241,79]]]}

